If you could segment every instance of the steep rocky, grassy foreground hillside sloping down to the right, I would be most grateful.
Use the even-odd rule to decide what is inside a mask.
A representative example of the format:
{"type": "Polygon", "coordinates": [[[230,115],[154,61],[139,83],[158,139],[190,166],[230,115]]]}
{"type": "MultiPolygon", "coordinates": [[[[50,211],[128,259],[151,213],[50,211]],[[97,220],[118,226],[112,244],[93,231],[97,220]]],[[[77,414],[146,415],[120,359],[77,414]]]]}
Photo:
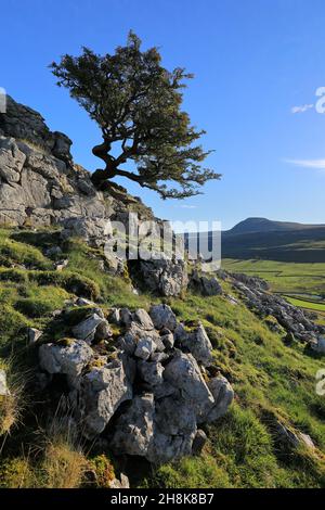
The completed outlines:
{"type": "Polygon", "coordinates": [[[158,242],[161,220],[98,192],[37,112],[10,100],[0,129],[0,486],[324,487],[317,317],[257,278],[107,256],[108,219],[158,242]]]}

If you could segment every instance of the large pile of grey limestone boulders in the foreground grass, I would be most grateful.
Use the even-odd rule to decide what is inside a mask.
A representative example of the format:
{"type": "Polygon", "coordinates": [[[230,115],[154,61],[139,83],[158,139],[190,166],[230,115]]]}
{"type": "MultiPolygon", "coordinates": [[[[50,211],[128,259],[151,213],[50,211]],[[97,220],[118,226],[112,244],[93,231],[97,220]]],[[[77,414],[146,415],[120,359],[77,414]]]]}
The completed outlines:
{"type": "Polygon", "coordinates": [[[204,444],[198,425],[222,417],[234,396],[229,381],[216,375],[204,327],[185,327],[164,304],[150,313],[115,308],[108,317],[121,329],[118,339],[99,330],[101,321],[109,329],[107,318],[90,309],[72,328],[78,337],[38,350],[49,381],[65,378],[80,432],[91,441],[106,437],[116,455],[154,464],[197,451],[204,444]]]}

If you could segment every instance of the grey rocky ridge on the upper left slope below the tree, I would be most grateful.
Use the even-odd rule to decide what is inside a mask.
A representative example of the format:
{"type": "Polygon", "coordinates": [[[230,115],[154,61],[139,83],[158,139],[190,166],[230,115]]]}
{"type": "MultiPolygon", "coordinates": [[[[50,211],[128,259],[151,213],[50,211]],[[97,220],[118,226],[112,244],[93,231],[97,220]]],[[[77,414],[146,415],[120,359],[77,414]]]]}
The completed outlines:
{"type": "MultiPolygon", "coordinates": [[[[120,221],[128,231],[133,213],[140,221],[154,220],[154,233],[160,239],[167,224],[140,199],[114,184],[107,192],[96,191],[90,173],[74,163],[68,137],[50,131],[39,113],[12,98],[6,103],[6,113],[0,114],[0,225],[54,225],[62,229],[63,239],[81,237],[104,248],[108,220],[120,221]]],[[[112,272],[123,272],[125,260],[113,255],[107,263],[112,272]]],[[[146,289],[161,295],[179,295],[187,286],[181,257],[140,258],[134,272],[146,289]]]]}

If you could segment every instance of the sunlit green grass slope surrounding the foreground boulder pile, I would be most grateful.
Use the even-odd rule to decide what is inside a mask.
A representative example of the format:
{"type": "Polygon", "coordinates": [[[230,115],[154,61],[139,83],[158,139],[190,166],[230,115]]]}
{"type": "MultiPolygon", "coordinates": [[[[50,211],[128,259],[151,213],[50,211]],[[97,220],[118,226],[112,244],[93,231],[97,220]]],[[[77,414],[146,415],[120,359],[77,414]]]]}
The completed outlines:
{"type": "MultiPolygon", "coordinates": [[[[114,469],[119,470],[119,459],[108,451],[99,455],[83,448],[62,431],[43,433],[40,396],[28,390],[36,352],[27,345],[26,328],[40,328],[56,340],[62,332],[53,329],[52,314],[80,290],[107,310],[112,305],[147,309],[160,301],[135,295],[127,273],[116,278],[104,272],[102,253],[78,240],[63,246],[68,266],[54,270],[43,253],[55,244],[55,230],[0,231],[0,364],[17,388],[12,406],[18,411],[13,415],[0,401],[0,417],[6,417],[0,435],[2,487],[84,486],[90,468],[98,473],[99,486],[106,486],[114,469]],[[17,373],[20,384],[14,383],[17,373]]],[[[324,361],[307,354],[301,344],[286,346],[244,304],[226,298],[235,295],[229,282],[222,285],[223,296],[188,292],[166,302],[180,319],[203,321],[214,348],[216,370],[231,381],[235,401],[225,417],[207,426],[209,441],[200,456],[155,471],[129,462],[132,486],[324,487],[325,397],[315,392],[315,375],[324,361]],[[278,420],[310,434],[315,449],[283,447],[275,432],[278,420]]]]}

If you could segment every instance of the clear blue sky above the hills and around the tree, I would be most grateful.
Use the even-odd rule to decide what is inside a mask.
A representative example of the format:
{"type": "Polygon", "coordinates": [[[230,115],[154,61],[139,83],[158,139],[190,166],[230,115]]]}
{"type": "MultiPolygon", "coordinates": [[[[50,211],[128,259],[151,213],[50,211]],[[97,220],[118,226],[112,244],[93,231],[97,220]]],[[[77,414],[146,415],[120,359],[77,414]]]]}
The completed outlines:
{"type": "Polygon", "coordinates": [[[160,47],[166,67],[195,74],[184,107],[208,131],[208,164],[223,177],[181,202],[120,180],[157,216],[223,228],[248,216],[325,221],[325,114],[314,107],[324,0],[6,0],[0,15],[0,87],[66,132],[89,169],[101,165],[91,155],[99,130],[54,85],[51,61],[81,46],[110,52],[132,28],[145,48],[160,47]]]}

